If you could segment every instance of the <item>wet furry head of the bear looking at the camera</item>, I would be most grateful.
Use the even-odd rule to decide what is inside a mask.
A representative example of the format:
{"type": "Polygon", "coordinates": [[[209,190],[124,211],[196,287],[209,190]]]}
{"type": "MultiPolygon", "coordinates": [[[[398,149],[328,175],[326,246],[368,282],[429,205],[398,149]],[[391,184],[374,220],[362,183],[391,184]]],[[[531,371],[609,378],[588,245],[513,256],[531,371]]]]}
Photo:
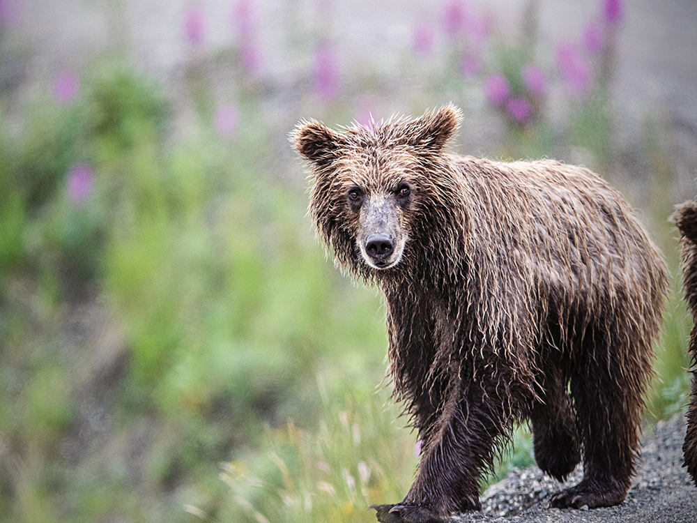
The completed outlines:
{"type": "Polygon", "coordinates": [[[343,268],[369,278],[409,257],[413,227],[447,184],[434,180],[447,169],[433,167],[443,163],[459,120],[451,106],[404,126],[389,121],[339,134],[309,121],[296,129],[293,143],[312,166],[310,213],[343,268]]]}

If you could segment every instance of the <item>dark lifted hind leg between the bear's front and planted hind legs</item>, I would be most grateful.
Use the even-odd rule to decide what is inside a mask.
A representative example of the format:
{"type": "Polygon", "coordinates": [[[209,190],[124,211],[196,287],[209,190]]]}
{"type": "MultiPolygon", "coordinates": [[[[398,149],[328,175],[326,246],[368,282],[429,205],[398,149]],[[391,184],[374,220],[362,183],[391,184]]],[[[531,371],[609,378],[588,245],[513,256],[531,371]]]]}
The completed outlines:
{"type": "Polygon", "coordinates": [[[576,416],[565,389],[561,372],[550,370],[542,402],[535,402],[530,412],[537,466],[559,481],[564,481],[581,461],[576,416]]]}

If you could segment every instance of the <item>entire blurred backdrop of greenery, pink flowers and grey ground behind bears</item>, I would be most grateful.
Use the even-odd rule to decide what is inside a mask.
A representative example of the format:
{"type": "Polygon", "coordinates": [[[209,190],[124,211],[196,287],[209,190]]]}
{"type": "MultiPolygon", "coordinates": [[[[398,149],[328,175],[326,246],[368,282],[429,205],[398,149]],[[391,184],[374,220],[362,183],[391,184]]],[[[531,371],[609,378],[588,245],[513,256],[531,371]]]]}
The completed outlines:
{"type": "MultiPolygon", "coordinates": [[[[384,309],[314,238],[289,132],[464,112],[454,151],[586,165],[674,275],[694,0],[0,0],[0,521],[372,522],[415,434],[384,309]]],[[[533,464],[522,427],[489,480],[533,464]]],[[[484,487],[485,485],[482,485],[484,487]]]]}

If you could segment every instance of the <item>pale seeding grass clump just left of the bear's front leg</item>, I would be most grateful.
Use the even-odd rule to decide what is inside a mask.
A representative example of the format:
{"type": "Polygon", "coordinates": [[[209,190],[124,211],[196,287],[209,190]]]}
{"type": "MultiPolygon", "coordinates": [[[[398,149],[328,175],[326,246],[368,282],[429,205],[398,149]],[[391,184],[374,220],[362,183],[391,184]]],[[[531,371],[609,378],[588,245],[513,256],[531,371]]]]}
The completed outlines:
{"type": "Polygon", "coordinates": [[[222,465],[231,498],[221,520],[373,521],[367,507],[404,497],[416,464],[413,437],[384,401],[353,389],[323,403],[316,432],[269,430],[263,453],[222,465]]]}

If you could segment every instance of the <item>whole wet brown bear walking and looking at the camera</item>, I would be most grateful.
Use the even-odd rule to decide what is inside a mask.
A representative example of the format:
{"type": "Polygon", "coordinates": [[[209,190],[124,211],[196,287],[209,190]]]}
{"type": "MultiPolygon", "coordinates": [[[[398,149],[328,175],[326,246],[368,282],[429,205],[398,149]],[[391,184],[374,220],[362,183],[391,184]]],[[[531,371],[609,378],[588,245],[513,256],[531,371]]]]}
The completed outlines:
{"type": "Polygon", "coordinates": [[[300,123],[309,213],[346,272],[384,293],[395,397],[422,439],[381,522],[446,522],[530,420],[539,467],[581,483],[555,507],[621,503],[634,474],[666,266],[620,193],[552,160],[493,162],[444,147],[443,107],[335,132],[300,123]]]}

